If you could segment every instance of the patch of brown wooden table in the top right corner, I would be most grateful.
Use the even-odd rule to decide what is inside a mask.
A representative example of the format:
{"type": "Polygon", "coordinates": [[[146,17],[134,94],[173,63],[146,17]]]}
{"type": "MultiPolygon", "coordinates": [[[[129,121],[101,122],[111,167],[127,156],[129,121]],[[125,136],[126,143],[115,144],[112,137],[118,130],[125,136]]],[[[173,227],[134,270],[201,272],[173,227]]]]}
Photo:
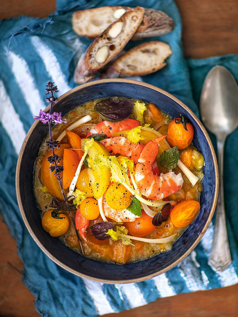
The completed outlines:
{"type": "Polygon", "coordinates": [[[186,57],[238,53],[237,0],[175,0],[183,22],[186,57]]]}

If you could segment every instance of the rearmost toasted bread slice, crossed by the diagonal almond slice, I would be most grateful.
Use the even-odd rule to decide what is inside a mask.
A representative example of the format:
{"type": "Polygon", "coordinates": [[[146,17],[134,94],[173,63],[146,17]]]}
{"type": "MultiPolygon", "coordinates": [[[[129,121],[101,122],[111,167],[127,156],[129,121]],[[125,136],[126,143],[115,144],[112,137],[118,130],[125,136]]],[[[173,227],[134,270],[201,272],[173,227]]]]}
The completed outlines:
{"type": "MultiPolygon", "coordinates": [[[[101,8],[75,11],[72,15],[72,26],[76,34],[94,39],[109,25],[119,19],[125,12],[133,8],[107,6],[101,8]]],[[[143,21],[132,40],[145,37],[160,36],[169,33],[174,28],[173,19],[165,12],[145,8],[143,21]]]]}

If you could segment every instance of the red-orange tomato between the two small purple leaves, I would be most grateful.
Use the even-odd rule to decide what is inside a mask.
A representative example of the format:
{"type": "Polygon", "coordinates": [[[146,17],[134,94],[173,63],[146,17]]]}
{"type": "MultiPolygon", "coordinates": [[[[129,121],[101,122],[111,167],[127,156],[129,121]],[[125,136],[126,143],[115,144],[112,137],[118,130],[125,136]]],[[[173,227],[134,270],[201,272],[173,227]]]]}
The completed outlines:
{"type": "Polygon", "coordinates": [[[152,217],[149,217],[144,210],[142,210],[142,215],[139,218],[136,218],[135,221],[126,222],[123,225],[128,230],[128,235],[143,237],[149,235],[155,230],[155,226],[152,224],[152,217]]]}

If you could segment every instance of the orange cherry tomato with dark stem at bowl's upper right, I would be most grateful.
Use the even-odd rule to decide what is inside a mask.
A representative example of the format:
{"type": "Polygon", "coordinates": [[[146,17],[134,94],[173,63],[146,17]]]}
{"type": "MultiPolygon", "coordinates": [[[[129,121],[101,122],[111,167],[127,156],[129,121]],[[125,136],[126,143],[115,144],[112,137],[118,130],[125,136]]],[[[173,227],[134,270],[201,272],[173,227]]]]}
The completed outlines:
{"type": "Polygon", "coordinates": [[[171,146],[177,146],[179,150],[185,149],[192,142],[193,135],[193,126],[183,116],[169,123],[167,141],[171,146]]]}

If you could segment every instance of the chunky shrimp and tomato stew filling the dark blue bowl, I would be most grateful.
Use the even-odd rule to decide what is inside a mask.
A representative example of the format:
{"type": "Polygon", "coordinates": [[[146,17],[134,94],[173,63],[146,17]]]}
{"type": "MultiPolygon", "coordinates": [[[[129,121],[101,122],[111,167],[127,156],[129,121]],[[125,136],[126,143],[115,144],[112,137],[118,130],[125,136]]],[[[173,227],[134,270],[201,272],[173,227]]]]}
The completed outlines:
{"type": "MultiPolygon", "coordinates": [[[[64,119],[52,136],[60,141],[63,188],[72,196],[69,205],[85,255],[125,264],[170,250],[200,210],[204,158],[192,143],[192,125],[179,113],[173,120],[152,103],[123,97],[88,101],[64,119]],[[95,112],[111,104],[117,110],[132,106],[133,113],[109,122],[108,113],[95,112]]],[[[45,140],[34,173],[42,225],[79,252],[66,206],[54,214],[63,196],[49,169],[45,140]]]]}

